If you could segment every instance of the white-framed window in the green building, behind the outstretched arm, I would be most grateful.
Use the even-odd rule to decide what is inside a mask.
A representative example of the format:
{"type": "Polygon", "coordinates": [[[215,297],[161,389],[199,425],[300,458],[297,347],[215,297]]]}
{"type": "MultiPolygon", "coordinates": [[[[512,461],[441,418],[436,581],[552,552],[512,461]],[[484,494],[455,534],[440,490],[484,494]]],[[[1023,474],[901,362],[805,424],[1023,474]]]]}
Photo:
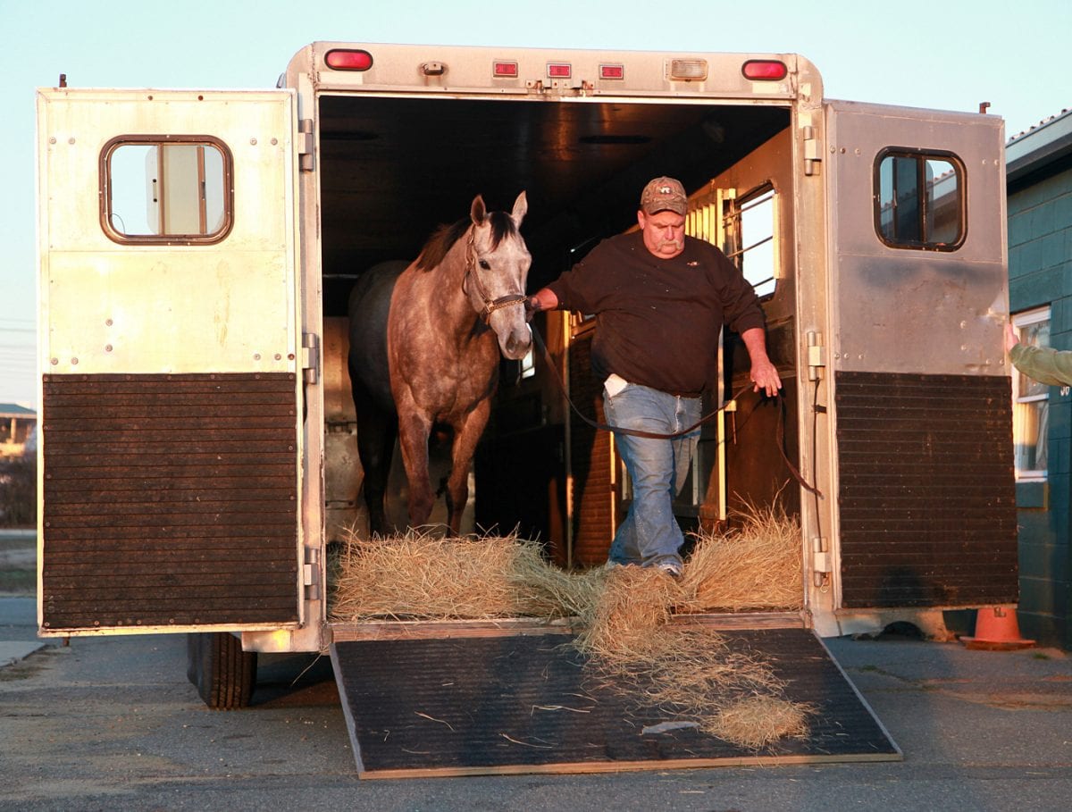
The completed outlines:
{"type": "MultiPolygon", "coordinates": [[[[1049,307],[1017,313],[1013,329],[1022,344],[1049,346],[1049,307]]],[[[1012,371],[1012,437],[1017,482],[1046,479],[1046,447],[1049,433],[1049,387],[1012,371]]]]}

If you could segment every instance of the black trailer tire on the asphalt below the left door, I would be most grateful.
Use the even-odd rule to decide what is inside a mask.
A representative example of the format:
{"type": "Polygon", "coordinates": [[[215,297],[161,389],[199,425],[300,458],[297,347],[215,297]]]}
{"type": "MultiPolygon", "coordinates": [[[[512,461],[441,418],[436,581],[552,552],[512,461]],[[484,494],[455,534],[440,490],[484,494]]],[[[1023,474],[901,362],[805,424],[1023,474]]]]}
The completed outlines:
{"type": "Polygon", "coordinates": [[[228,632],[187,635],[187,677],[213,710],[244,708],[257,677],[257,652],[228,632]]]}

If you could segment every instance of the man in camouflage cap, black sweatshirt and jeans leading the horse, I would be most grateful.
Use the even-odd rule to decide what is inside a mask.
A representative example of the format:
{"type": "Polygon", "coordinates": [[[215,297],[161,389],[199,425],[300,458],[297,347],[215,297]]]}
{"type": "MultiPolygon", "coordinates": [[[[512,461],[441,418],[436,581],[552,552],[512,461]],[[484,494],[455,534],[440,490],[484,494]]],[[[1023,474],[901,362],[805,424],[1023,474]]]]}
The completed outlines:
{"type": "MultiPolygon", "coordinates": [[[[724,324],[744,341],[754,391],[774,395],[781,388],[766,357],[763,312],[751,285],[717,247],[685,236],[687,207],[679,181],[654,179],[640,196],[639,232],[604,240],[526,303],[531,311],[597,314],[592,367],[605,380],[611,425],[674,434],[699,421],[724,324]]],[[[615,433],[632,503],[614,536],[609,566],[681,574],[684,538],[673,498],[698,439],[699,430],[673,439],[615,433]]]]}

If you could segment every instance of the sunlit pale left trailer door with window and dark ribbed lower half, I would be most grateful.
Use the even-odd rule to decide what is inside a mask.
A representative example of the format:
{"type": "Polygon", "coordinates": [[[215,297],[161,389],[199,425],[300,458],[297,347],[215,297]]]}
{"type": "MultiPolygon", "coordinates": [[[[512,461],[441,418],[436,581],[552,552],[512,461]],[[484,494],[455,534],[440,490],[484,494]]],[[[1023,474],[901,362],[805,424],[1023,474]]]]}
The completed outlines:
{"type": "Polygon", "coordinates": [[[292,91],[38,94],[41,634],[300,614],[292,91]]]}

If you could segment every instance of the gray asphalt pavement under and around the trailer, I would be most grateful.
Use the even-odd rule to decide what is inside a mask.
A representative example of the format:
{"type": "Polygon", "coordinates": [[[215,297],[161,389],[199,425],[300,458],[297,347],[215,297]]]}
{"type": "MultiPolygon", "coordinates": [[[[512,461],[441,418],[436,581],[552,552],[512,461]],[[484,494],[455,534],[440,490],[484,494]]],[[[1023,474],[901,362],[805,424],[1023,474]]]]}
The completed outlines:
{"type": "Polygon", "coordinates": [[[0,597],[0,810],[1018,810],[1072,808],[1072,658],[905,636],[824,641],[903,761],[358,780],[330,663],[262,657],[210,711],[183,635],[41,641],[0,597]]]}

